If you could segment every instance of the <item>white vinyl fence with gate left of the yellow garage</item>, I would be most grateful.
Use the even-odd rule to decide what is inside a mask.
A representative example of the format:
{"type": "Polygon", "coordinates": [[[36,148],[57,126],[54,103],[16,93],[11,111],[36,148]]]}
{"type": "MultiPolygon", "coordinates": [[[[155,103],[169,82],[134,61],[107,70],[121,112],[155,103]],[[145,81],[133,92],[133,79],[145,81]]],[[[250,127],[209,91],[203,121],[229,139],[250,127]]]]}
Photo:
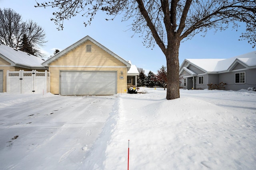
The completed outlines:
{"type": "Polygon", "coordinates": [[[50,72],[7,71],[7,93],[36,93],[50,92],[50,72]]]}

